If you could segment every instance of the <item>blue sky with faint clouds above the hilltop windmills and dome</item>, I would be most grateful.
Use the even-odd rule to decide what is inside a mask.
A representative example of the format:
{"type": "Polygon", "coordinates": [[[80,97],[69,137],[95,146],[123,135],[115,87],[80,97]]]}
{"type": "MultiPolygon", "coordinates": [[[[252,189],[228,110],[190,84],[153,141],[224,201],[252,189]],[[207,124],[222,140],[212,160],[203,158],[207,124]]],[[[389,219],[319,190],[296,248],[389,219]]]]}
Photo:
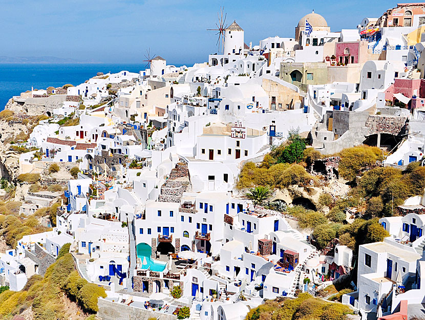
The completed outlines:
{"type": "Polygon", "coordinates": [[[331,31],[352,29],[364,17],[396,6],[388,0],[0,0],[0,56],[56,56],[104,63],[141,63],[146,50],[167,63],[208,60],[218,51],[217,12],[258,45],[268,36],[294,37],[313,9],[331,31]]]}

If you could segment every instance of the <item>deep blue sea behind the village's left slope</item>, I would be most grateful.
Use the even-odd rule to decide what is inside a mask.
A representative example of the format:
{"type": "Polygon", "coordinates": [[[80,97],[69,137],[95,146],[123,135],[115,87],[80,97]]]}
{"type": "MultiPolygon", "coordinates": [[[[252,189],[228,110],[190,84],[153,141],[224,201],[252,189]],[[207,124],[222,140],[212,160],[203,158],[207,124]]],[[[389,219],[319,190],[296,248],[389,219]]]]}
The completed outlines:
{"type": "MultiPolygon", "coordinates": [[[[180,65],[175,65],[180,66],[180,65]]],[[[48,87],[61,87],[71,83],[74,86],[94,77],[98,72],[104,74],[116,73],[122,70],[139,72],[145,70],[146,65],[124,63],[4,63],[0,64],[0,111],[13,96],[21,92],[48,87]]]]}

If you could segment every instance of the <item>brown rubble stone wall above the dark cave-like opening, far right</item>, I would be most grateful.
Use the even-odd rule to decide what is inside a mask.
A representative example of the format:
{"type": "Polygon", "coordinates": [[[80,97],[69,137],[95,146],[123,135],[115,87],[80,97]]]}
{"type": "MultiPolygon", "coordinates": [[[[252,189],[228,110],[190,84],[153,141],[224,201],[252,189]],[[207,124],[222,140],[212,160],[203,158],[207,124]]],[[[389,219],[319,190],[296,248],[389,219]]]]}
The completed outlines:
{"type": "Polygon", "coordinates": [[[409,132],[409,123],[406,116],[387,116],[387,115],[373,115],[369,116],[366,121],[369,135],[378,133],[387,133],[390,135],[398,136],[409,132]]]}

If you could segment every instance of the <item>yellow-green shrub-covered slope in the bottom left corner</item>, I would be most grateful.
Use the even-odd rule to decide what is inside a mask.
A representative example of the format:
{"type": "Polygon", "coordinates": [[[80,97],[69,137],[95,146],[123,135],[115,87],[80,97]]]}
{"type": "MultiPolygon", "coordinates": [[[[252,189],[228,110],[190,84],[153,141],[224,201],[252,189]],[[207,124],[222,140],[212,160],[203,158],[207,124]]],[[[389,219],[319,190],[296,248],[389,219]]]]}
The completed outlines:
{"type": "Polygon", "coordinates": [[[0,293],[0,316],[3,319],[10,319],[30,307],[34,320],[75,318],[75,314],[67,311],[67,297],[78,304],[80,319],[97,312],[97,298],[105,297],[105,290],[80,278],[68,250],[69,245],[61,248],[58,259],[48,268],[44,278],[33,275],[23,290],[0,293]]]}

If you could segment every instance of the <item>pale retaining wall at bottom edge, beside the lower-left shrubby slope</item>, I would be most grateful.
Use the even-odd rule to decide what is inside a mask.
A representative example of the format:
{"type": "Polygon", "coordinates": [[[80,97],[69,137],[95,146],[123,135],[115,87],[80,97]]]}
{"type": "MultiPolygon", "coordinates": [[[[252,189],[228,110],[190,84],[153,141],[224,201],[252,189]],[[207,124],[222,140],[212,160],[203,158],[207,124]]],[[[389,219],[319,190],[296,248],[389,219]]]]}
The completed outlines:
{"type": "Polygon", "coordinates": [[[97,318],[101,320],[147,320],[148,318],[160,318],[161,320],[176,320],[177,316],[163,312],[153,312],[151,310],[132,307],[122,303],[112,302],[103,298],[98,298],[97,305],[99,311],[97,318]]]}

